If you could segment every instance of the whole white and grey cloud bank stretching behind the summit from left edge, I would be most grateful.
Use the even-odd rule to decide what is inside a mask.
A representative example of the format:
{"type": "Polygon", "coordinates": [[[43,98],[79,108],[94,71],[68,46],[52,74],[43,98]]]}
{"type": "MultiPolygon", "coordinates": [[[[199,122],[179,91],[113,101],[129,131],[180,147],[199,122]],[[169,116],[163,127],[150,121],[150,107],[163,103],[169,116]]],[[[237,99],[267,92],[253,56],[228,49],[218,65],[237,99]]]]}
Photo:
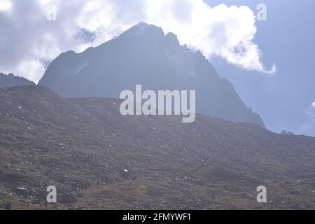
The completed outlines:
{"type": "Polygon", "coordinates": [[[182,44],[210,59],[219,56],[241,69],[276,72],[275,65],[268,70],[261,62],[262,53],[253,42],[255,15],[246,6],[211,8],[202,0],[1,0],[0,9],[5,3],[11,13],[0,21],[0,50],[7,52],[0,55],[0,71],[31,80],[38,81],[44,62],[60,52],[99,45],[140,21],[174,32],[182,44]],[[51,3],[57,6],[53,22],[46,20],[51,3]],[[95,34],[92,43],[75,38],[82,28],[95,34]]]}

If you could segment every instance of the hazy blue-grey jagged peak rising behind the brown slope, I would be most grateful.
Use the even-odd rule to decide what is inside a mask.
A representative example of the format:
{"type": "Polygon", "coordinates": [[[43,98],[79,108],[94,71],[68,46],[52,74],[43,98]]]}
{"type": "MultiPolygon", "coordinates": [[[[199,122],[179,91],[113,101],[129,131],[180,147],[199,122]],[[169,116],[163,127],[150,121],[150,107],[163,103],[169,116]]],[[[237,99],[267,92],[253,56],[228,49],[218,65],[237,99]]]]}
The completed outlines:
{"type": "Polygon", "coordinates": [[[96,48],[62,53],[38,83],[64,97],[111,98],[136,84],[144,90],[196,90],[197,112],[265,127],[200,51],[190,51],[176,35],[144,22],[96,48]]]}

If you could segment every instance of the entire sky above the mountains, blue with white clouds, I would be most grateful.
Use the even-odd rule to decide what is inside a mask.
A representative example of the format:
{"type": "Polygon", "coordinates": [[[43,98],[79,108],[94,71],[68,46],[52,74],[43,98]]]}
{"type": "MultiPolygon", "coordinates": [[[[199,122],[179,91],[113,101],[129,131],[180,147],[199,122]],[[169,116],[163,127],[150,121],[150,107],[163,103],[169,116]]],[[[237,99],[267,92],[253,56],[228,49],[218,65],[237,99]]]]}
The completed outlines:
{"type": "Polygon", "coordinates": [[[313,0],[0,0],[0,72],[40,80],[140,21],[201,50],[267,128],[315,136],[313,0]],[[259,21],[257,6],[266,6],[259,21]]]}

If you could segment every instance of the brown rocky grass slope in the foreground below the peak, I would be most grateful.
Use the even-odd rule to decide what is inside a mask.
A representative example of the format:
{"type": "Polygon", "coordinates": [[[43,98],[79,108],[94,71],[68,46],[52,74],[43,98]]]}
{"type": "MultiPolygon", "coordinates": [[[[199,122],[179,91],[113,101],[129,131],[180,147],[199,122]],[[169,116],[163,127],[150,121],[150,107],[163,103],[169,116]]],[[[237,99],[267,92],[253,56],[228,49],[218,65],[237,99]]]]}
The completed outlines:
{"type": "Polygon", "coordinates": [[[0,209],[315,209],[312,137],[201,114],[124,117],[119,99],[36,85],[0,88],[0,105],[0,209]]]}

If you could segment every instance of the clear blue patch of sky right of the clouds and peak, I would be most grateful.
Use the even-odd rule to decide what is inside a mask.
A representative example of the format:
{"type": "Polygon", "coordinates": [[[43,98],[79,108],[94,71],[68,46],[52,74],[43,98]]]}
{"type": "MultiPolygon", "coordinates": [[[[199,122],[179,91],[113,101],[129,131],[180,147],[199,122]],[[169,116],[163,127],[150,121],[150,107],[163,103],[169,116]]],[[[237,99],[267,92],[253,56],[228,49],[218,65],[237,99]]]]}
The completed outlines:
{"type": "MultiPolygon", "coordinates": [[[[246,5],[255,10],[261,1],[208,1],[246,5]]],[[[254,42],[262,63],[276,63],[276,73],[265,76],[244,71],[212,58],[218,73],[230,80],[241,99],[260,114],[268,129],[315,136],[315,1],[265,0],[267,21],[256,21],[254,42]]]]}

